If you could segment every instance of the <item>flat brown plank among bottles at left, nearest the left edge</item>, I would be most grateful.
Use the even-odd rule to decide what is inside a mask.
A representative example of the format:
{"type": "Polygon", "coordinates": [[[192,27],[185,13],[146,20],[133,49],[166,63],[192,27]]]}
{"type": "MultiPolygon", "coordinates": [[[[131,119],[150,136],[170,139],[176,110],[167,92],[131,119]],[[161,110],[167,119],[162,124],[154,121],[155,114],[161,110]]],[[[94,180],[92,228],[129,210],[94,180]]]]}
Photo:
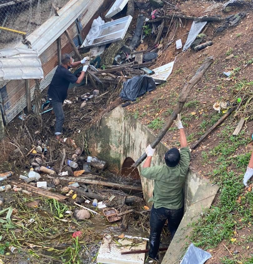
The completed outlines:
{"type": "Polygon", "coordinates": [[[59,202],[63,202],[65,199],[67,199],[67,197],[64,196],[64,195],[57,194],[57,193],[52,193],[52,192],[49,192],[49,191],[34,187],[32,185],[29,185],[29,184],[26,184],[26,183],[23,183],[23,182],[10,181],[10,183],[13,184],[13,185],[16,185],[18,187],[21,187],[23,190],[27,190],[27,191],[32,192],[34,194],[38,194],[38,195],[41,195],[41,196],[48,197],[50,199],[55,199],[55,200],[57,200],[59,202]]]}

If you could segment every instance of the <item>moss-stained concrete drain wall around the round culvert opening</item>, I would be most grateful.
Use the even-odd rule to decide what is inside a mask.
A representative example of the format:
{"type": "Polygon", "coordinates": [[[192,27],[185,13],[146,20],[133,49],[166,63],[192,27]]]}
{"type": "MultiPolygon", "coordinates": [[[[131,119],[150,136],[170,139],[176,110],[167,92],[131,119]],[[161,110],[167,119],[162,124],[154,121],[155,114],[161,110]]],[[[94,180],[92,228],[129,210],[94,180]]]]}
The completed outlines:
{"type": "MultiPolygon", "coordinates": [[[[90,130],[89,151],[92,156],[107,160],[111,171],[119,172],[127,157],[136,161],[154,139],[155,136],[144,125],[119,106],[102,118],[99,129],[90,130]]],[[[151,166],[163,164],[166,150],[167,148],[160,142],[151,166]]],[[[138,167],[140,175],[141,167],[141,165],[138,167]]],[[[145,201],[151,206],[148,199],[152,196],[153,181],[141,177],[141,185],[145,201]]],[[[162,264],[178,263],[185,252],[186,236],[191,232],[189,224],[196,221],[201,212],[211,206],[217,192],[216,185],[211,186],[208,180],[189,170],[184,186],[185,214],[162,264]]]]}

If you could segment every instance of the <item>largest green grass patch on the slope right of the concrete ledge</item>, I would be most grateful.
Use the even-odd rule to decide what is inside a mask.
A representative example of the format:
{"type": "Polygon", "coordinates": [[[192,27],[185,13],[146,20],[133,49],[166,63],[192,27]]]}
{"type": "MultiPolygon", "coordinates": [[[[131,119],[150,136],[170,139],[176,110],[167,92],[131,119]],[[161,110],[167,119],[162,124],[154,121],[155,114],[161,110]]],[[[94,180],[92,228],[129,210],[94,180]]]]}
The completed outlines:
{"type": "MultiPolygon", "coordinates": [[[[243,133],[238,137],[230,136],[232,129],[227,126],[220,132],[221,142],[209,155],[202,152],[202,157],[206,160],[211,156],[218,157],[213,162],[215,169],[211,173],[211,179],[220,186],[220,196],[218,203],[210,208],[206,217],[193,224],[191,239],[197,247],[216,247],[223,239],[230,241],[235,226],[240,229],[243,225],[253,224],[253,193],[241,195],[244,190],[243,173],[251,153],[234,155],[238,149],[243,149],[250,139],[242,137],[243,133]],[[237,201],[239,196],[241,202],[237,201]]],[[[230,263],[230,259],[223,261],[225,264],[230,263]]]]}

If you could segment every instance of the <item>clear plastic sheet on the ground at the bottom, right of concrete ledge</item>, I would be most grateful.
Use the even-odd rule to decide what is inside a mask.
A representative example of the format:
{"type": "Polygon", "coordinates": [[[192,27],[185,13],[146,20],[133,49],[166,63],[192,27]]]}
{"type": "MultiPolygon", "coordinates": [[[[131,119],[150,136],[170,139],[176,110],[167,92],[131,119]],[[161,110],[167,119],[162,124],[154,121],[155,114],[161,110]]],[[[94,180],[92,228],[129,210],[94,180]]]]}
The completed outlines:
{"type": "Polygon", "coordinates": [[[192,243],[188,247],[181,264],[204,264],[212,255],[205,250],[195,247],[192,243]]]}

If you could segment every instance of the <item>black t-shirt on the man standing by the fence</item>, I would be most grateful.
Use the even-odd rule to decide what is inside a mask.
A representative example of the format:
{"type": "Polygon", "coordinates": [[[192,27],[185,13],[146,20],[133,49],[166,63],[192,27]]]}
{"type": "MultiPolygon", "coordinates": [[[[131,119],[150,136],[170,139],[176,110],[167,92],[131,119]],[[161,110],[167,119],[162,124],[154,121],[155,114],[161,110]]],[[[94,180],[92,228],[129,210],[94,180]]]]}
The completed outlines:
{"type": "Polygon", "coordinates": [[[58,66],[48,88],[48,97],[58,102],[63,102],[67,98],[69,83],[75,83],[77,79],[74,74],[62,65],[58,66]]]}

